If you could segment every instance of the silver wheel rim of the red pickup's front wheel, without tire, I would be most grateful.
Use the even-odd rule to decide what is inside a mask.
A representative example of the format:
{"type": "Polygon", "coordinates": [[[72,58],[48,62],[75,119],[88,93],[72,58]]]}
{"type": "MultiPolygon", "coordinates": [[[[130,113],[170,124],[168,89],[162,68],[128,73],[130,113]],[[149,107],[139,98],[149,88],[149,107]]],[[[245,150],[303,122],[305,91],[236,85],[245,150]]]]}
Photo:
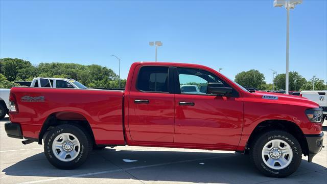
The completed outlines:
{"type": "Polygon", "coordinates": [[[286,168],[292,162],[291,146],[283,140],[271,140],[262,149],[262,159],[271,169],[286,168]]]}

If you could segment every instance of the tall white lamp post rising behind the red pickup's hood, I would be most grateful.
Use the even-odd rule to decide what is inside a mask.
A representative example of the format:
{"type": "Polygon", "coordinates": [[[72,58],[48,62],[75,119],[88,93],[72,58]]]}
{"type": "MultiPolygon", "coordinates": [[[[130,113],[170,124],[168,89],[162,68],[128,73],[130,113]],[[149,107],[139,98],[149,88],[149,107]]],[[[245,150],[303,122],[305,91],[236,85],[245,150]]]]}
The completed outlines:
{"type": "Polygon", "coordinates": [[[274,7],[285,6],[287,9],[286,21],[286,79],[285,94],[288,94],[288,65],[289,65],[289,40],[290,40],[290,9],[294,9],[295,5],[301,4],[302,0],[274,0],[274,7]]]}

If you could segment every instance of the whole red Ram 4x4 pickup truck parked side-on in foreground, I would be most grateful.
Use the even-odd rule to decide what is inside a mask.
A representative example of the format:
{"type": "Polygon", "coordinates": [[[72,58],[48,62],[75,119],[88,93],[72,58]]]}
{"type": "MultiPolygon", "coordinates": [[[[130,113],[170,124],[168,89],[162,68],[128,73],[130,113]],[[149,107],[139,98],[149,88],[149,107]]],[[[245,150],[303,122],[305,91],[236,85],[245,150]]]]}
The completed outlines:
{"type": "Polygon", "coordinates": [[[249,153],[256,168],[284,177],[322,149],[322,109],[302,97],[248,91],[197,64],[136,62],[125,90],[13,87],[7,135],[44,144],[60,169],[92,149],[153,146],[249,153]],[[199,94],[181,90],[197,85],[199,94]]]}

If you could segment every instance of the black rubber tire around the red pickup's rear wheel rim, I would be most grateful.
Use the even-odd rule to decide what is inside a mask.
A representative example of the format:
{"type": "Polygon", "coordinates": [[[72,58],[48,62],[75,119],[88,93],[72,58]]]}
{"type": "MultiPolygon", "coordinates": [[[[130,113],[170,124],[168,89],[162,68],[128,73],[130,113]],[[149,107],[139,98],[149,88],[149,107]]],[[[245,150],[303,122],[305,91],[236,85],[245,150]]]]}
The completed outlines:
{"type": "Polygon", "coordinates": [[[90,136],[88,136],[88,134],[85,133],[82,127],[79,127],[77,125],[72,125],[72,124],[58,125],[49,131],[49,133],[46,135],[44,140],[44,154],[46,158],[53,166],[59,169],[74,169],[81,166],[85,162],[91,150],[92,150],[92,142],[90,140],[90,136]],[[73,134],[74,136],[77,137],[80,143],[80,147],[78,148],[80,150],[79,153],[77,154],[77,157],[68,162],[58,159],[54,155],[55,153],[52,150],[52,145],[54,144],[56,137],[62,133],[73,134]]]}

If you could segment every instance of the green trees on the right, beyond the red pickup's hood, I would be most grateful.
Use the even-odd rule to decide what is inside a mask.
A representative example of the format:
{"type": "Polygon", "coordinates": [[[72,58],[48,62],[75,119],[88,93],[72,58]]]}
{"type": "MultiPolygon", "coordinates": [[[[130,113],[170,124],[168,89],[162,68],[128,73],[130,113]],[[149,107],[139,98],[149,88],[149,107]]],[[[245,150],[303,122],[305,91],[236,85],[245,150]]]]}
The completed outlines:
{"type": "MultiPolygon", "coordinates": [[[[278,74],[274,78],[274,90],[285,90],[285,74],[278,74]]],[[[238,73],[235,76],[235,82],[244,87],[255,87],[260,90],[272,90],[272,84],[266,83],[264,74],[258,70],[249,70],[238,73]]],[[[289,72],[289,90],[312,90],[314,83],[315,90],[327,89],[327,83],[322,79],[305,79],[297,72],[289,72]]]]}

